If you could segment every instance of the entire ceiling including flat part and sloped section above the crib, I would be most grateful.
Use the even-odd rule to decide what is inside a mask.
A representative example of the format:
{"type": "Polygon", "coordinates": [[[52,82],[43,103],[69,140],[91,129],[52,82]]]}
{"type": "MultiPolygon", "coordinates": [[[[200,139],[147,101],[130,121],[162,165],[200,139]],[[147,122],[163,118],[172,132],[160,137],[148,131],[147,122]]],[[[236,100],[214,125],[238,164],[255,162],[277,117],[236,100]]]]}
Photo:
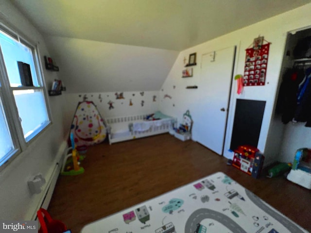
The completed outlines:
{"type": "Polygon", "coordinates": [[[311,0],[8,1],[43,34],[66,93],[91,93],[160,90],[179,51],[311,0]]]}

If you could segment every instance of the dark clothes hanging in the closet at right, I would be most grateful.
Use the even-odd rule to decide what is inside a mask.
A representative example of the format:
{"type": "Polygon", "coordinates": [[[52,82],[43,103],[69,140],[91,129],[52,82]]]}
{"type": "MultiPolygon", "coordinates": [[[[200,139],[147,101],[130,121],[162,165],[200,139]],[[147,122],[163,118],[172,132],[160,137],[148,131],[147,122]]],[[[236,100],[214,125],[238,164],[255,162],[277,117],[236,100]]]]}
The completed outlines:
{"type": "Polygon", "coordinates": [[[282,114],[284,124],[307,122],[305,126],[311,127],[311,67],[306,68],[306,65],[309,64],[295,63],[283,76],[276,113],[282,114]]]}

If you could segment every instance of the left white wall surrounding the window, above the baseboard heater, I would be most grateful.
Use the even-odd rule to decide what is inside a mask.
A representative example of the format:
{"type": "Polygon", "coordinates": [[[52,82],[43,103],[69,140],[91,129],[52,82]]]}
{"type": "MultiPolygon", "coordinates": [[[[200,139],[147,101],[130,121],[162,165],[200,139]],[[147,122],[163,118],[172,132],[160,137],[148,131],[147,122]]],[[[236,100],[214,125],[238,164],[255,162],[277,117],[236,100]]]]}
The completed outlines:
{"type": "MultiPolygon", "coordinates": [[[[23,33],[31,41],[38,43],[39,55],[44,62],[43,56],[48,54],[48,50],[43,37],[9,0],[0,2],[0,20],[4,24],[13,25],[19,33],[23,33]]],[[[57,78],[56,73],[46,70],[43,70],[43,73],[46,83],[52,83],[52,80],[57,78]]],[[[0,219],[30,220],[42,201],[43,192],[31,195],[27,181],[37,173],[42,173],[48,181],[59,155],[66,146],[62,125],[63,100],[62,96],[48,98],[52,125],[0,171],[0,219]]]]}

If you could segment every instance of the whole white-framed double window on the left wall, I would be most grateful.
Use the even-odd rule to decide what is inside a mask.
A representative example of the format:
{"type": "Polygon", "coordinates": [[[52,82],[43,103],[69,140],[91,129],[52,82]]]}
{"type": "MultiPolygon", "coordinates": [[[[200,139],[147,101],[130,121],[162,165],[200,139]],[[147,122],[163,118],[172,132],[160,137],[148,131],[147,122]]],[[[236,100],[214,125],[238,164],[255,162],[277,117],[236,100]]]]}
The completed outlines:
{"type": "Polygon", "coordinates": [[[36,54],[0,25],[0,166],[50,123],[36,54]]]}

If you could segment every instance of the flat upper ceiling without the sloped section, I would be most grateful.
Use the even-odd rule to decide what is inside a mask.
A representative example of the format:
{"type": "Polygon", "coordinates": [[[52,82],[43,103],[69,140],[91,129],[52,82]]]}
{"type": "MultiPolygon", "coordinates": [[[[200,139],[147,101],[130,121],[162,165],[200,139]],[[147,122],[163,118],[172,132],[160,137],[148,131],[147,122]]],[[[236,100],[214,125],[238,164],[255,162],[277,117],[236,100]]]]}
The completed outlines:
{"type": "Polygon", "coordinates": [[[184,50],[310,0],[11,0],[44,35],[184,50]]]}

